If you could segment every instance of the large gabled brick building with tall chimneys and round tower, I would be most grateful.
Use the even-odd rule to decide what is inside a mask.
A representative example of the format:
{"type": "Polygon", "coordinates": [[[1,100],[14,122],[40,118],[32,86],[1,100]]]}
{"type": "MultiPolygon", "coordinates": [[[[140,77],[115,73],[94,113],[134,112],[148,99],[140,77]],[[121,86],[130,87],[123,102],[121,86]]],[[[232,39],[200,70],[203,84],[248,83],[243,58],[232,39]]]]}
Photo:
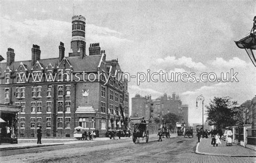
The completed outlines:
{"type": "Polygon", "coordinates": [[[33,45],[31,60],[15,61],[8,48],[6,62],[0,63],[0,103],[21,106],[20,137],[35,137],[39,126],[43,137],[73,137],[79,125],[99,136],[123,127],[120,106],[128,117],[129,93],[122,75],[113,75],[122,73],[118,60],[106,60],[99,43],[90,44],[89,55],[85,49],[83,16],[72,17],[68,56],[62,42],[57,58],[41,59],[40,47],[33,45]]]}

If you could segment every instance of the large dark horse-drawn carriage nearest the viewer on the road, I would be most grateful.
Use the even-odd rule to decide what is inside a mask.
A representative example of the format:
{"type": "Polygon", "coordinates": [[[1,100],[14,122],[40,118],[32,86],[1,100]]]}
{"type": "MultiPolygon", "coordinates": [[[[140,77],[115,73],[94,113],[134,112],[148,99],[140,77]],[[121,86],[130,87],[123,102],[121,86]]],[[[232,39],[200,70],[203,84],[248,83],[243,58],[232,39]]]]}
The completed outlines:
{"type": "Polygon", "coordinates": [[[149,130],[147,130],[146,123],[136,123],[134,124],[134,129],[132,133],[132,141],[133,143],[139,143],[139,138],[145,138],[146,143],[149,142],[149,130]]]}

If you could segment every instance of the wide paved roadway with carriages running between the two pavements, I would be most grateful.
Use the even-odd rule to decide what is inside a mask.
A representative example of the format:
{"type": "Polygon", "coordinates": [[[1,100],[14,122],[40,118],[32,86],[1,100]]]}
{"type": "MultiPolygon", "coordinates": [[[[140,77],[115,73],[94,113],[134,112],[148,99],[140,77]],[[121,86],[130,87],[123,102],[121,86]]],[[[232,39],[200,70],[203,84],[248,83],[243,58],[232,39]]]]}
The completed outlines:
{"type": "Polygon", "coordinates": [[[0,162],[255,162],[255,158],[230,158],[194,153],[196,138],[150,137],[149,143],[130,139],[82,141],[23,150],[1,151],[0,162]]]}

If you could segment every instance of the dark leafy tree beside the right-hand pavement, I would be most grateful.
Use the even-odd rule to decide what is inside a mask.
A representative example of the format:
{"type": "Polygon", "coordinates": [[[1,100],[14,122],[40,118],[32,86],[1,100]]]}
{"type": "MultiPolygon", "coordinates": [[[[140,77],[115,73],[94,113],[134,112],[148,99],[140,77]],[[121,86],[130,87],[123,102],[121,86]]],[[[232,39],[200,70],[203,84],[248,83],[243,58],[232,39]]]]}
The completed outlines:
{"type": "Polygon", "coordinates": [[[230,97],[214,97],[207,108],[207,121],[219,129],[241,123],[241,110],[236,101],[230,97]]]}

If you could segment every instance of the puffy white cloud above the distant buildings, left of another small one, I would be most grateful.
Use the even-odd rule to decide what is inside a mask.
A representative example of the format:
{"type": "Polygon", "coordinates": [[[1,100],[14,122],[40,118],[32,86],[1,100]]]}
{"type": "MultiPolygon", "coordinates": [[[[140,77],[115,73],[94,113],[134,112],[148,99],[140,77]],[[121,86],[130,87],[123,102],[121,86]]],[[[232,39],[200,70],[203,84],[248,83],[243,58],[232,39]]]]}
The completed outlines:
{"type": "Polygon", "coordinates": [[[188,68],[194,68],[194,69],[205,69],[206,66],[201,62],[194,62],[192,61],[192,58],[182,56],[181,58],[177,58],[176,56],[166,56],[163,58],[158,58],[157,62],[159,64],[168,64],[169,66],[186,66],[188,68]]]}

